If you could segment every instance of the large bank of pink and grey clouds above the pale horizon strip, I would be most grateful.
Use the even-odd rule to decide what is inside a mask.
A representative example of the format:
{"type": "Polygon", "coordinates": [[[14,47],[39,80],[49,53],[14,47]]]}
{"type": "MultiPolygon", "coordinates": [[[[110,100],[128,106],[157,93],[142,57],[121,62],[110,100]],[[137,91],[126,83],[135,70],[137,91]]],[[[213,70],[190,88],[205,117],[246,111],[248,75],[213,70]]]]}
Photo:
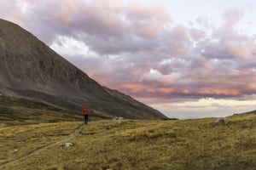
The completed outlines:
{"type": "Polygon", "coordinates": [[[83,42],[96,56],[64,57],[109,88],[181,100],[256,94],[256,42],[236,30],[241,10],[225,13],[221,26],[203,17],[183,26],[172,23],[165,8],[120,0],[26,0],[25,11],[3,2],[1,17],[18,20],[49,46],[57,37],[83,42]]]}

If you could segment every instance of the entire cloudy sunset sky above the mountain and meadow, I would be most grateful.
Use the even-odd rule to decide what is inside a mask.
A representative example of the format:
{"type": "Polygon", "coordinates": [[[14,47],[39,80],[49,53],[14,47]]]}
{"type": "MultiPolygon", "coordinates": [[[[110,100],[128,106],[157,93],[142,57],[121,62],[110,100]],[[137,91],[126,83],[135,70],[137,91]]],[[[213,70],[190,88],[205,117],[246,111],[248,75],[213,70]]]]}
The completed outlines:
{"type": "Polygon", "coordinates": [[[91,78],[166,116],[256,110],[254,0],[0,0],[91,78]]]}

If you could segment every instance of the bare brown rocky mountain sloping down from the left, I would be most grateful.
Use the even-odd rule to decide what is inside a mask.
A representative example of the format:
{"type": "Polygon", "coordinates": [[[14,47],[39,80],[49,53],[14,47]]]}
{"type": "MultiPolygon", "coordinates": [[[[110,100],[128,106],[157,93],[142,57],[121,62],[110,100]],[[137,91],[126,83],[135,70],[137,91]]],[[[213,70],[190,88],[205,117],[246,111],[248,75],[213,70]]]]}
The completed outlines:
{"type": "Polygon", "coordinates": [[[82,111],[84,104],[102,116],[166,118],[117,90],[102,87],[30,32],[0,20],[0,95],[82,111]]]}

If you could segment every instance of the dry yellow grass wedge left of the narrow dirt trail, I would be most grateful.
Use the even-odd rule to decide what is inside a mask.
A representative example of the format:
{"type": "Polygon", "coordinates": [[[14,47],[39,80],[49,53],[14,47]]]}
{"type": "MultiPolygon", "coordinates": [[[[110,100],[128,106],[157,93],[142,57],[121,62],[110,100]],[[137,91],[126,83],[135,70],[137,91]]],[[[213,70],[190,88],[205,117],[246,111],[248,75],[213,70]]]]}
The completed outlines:
{"type": "Polygon", "coordinates": [[[0,127],[0,163],[13,161],[63,139],[78,126],[78,122],[59,122],[0,127]]]}

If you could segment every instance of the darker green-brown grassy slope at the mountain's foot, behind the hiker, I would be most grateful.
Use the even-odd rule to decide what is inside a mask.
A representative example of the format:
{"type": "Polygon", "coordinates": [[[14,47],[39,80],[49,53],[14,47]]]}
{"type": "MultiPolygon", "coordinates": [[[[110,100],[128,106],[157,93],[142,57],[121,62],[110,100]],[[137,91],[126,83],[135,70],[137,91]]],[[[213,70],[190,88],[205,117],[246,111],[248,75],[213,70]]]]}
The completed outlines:
{"type": "MultiPolygon", "coordinates": [[[[93,120],[106,117],[93,114],[93,120]]],[[[40,122],[82,121],[78,111],[68,111],[38,101],[0,96],[0,122],[6,124],[32,124],[40,122]]]]}

